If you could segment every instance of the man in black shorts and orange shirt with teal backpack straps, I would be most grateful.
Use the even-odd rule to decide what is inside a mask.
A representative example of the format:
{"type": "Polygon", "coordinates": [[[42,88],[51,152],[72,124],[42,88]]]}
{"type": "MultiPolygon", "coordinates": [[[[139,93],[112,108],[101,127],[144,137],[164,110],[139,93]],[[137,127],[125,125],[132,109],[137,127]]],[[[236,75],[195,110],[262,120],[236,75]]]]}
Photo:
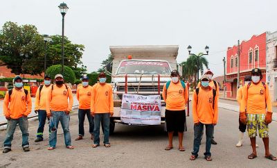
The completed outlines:
{"type": "Polygon", "coordinates": [[[171,72],[171,81],[163,86],[163,100],[166,101],[166,129],[168,131],[168,146],[165,150],[173,149],[172,139],[174,131],[178,131],[179,151],[185,151],[183,137],[186,122],[186,103],[188,101],[188,87],[180,81],[177,70],[171,72]],[[169,85],[168,85],[169,84],[169,85]]]}

